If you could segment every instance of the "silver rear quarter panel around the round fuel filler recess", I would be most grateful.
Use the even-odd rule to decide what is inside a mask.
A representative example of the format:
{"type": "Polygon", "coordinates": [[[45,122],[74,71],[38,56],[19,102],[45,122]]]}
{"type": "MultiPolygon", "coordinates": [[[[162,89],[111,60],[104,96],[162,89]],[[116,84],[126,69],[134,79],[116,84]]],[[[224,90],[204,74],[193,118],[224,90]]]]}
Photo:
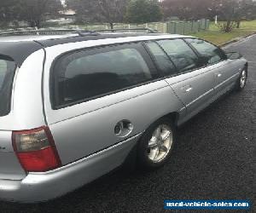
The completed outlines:
{"type": "Polygon", "coordinates": [[[169,85],[160,81],[73,107],[48,109],[47,120],[61,161],[67,164],[142,133],[158,118],[182,107],[169,85]],[[118,137],[114,126],[124,119],[131,121],[133,130],[118,137]]]}

